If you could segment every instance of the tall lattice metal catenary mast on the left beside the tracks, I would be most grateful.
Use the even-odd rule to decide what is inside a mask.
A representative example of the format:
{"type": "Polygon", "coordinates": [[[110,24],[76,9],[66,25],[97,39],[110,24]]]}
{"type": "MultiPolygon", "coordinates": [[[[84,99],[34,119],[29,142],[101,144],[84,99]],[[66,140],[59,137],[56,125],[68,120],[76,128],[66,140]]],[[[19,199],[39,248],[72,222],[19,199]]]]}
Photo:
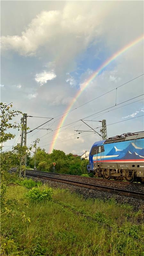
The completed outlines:
{"type": "Polygon", "coordinates": [[[24,113],[23,117],[21,118],[21,140],[20,140],[20,147],[21,147],[21,157],[20,157],[20,171],[19,177],[25,178],[26,176],[26,153],[23,155],[22,147],[27,146],[27,114],[24,113]]]}

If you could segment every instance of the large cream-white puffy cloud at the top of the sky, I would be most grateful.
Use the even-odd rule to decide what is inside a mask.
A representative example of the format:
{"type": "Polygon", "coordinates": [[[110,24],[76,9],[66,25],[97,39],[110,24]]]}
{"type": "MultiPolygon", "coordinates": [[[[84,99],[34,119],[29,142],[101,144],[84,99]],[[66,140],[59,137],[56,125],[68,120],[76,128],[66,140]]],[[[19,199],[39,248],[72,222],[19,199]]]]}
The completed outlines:
{"type": "Polygon", "coordinates": [[[81,3],[66,3],[61,11],[42,11],[20,36],[2,36],[2,49],[28,56],[35,55],[46,45],[47,52],[56,58],[61,54],[66,58],[76,56],[101,33],[96,29],[100,25],[99,17],[104,17],[110,5],[107,10],[103,7],[103,3],[83,2],[83,8],[81,3]]]}

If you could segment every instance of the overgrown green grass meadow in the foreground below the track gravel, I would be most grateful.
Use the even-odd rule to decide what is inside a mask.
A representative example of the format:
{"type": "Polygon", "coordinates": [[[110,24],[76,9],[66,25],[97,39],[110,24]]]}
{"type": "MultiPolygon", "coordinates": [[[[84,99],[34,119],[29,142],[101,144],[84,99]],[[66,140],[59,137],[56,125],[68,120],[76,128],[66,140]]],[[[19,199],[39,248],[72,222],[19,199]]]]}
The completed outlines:
{"type": "Polygon", "coordinates": [[[7,199],[16,199],[13,209],[25,216],[1,216],[1,255],[144,256],[142,212],[60,189],[53,190],[52,201],[31,203],[27,191],[8,187],[7,199]]]}

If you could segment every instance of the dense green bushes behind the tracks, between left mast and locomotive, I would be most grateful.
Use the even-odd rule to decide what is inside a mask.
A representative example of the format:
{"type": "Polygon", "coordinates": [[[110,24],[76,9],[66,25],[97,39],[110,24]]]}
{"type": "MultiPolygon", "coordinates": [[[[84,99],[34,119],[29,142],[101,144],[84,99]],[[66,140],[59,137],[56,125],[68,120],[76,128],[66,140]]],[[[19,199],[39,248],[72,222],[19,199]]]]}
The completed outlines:
{"type": "MultiPolygon", "coordinates": [[[[71,153],[66,155],[63,151],[56,149],[53,149],[51,154],[47,154],[45,149],[37,148],[36,167],[39,171],[53,172],[53,162],[56,162],[55,168],[58,173],[71,175],[87,174],[87,159],[81,160],[78,156],[74,157],[71,153]]],[[[34,167],[34,156],[28,158],[28,165],[31,168],[34,167]]]]}

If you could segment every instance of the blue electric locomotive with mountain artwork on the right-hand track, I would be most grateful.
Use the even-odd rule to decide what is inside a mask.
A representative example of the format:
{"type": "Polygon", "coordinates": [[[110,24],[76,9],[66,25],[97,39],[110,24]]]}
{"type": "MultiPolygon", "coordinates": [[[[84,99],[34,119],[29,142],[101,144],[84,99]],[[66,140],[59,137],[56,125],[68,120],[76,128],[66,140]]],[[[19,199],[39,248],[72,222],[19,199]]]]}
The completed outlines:
{"type": "Polygon", "coordinates": [[[124,133],[95,142],[87,170],[107,180],[144,184],[144,132],[124,133]]]}

